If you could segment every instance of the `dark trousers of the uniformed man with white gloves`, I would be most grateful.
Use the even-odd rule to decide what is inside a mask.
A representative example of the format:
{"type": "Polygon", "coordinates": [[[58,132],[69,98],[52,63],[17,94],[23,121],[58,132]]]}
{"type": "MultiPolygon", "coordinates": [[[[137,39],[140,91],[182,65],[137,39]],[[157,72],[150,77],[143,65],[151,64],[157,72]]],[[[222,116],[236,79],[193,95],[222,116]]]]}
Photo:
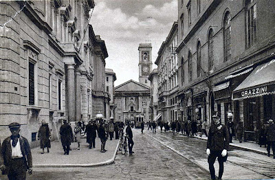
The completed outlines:
{"type": "Polygon", "coordinates": [[[219,161],[219,178],[223,176],[223,162],[226,160],[227,155],[225,157],[222,157],[221,152],[221,150],[211,150],[210,155],[208,156],[211,179],[216,179],[214,172],[214,161],[216,161],[217,157],[219,161]]]}

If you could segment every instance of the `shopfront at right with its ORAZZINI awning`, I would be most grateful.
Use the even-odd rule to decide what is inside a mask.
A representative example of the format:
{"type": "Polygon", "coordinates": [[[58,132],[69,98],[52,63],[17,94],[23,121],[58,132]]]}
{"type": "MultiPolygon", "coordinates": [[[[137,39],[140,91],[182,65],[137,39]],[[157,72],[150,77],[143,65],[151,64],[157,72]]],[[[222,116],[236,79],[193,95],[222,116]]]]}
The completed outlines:
{"type": "Polygon", "coordinates": [[[245,140],[257,142],[261,126],[275,120],[275,59],[258,65],[234,89],[232,100],[244,122],[245,140]]]}

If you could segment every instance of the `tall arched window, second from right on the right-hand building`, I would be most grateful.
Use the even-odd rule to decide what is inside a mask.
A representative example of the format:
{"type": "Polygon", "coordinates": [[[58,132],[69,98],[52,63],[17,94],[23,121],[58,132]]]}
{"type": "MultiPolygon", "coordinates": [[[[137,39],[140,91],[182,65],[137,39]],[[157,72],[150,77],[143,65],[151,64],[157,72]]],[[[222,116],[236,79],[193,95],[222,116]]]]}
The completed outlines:
{"type": "Polygon", "coordinates": [[[223,19],[224,27],[224,61],[231,58],[231,16],[230,12],[226,12],[223,19]]]}

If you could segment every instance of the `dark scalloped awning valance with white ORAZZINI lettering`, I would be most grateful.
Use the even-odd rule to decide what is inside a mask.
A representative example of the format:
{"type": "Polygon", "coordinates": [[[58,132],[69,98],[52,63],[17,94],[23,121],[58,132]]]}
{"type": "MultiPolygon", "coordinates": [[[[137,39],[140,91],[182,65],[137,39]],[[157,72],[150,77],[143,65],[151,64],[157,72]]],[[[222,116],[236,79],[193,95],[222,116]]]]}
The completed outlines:
{"type": "Polygon", "coordinates": [[[262,95],[274,94],[275,93],[275,85],[264,85],[261,87],[252,87],[251,89],[244,89],[243,91],[239,91],[233,93],[232,100],[241,100],[246,98],[255,98],[262,95]]]}

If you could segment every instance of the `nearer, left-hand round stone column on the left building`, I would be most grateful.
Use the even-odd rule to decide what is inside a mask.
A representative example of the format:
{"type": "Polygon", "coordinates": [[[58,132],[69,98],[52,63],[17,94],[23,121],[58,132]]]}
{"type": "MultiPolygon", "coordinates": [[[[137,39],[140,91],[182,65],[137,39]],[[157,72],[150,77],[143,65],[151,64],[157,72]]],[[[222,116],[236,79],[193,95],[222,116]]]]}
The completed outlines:
{"type": "Polygon", "coordinates": [[[76,93],[74,84],[74,65],[67,66],[67,102],[68,102],[68,119],[69,122],[75,121],[76,93]]]}

